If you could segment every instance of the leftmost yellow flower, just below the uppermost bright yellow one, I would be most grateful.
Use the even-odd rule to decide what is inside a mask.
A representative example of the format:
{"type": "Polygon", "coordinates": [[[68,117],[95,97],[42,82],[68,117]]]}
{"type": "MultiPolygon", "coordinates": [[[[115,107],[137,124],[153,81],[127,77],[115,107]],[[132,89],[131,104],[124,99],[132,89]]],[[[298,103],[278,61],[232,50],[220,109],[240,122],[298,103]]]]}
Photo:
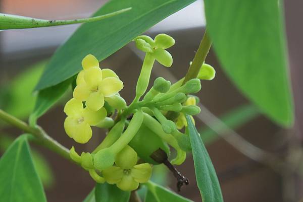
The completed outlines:
{"type": "Polygon", "coordinates": [[[96,125],[107,116],[105,108],[98,111],[92,111],[87,107],[83,109],[80,100],[72,98],[65,107],[64,112],[67,117],[64,121],[64,128],[68,136],[77,143],[87,143],[91,138],[92,131],[90,126],[96,125]]]}

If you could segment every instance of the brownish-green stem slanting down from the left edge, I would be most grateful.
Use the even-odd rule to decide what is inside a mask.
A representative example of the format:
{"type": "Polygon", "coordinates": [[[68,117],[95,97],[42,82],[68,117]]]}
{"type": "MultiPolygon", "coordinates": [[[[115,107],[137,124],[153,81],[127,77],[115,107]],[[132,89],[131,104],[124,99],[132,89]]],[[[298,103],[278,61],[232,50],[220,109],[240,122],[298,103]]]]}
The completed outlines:
{"type": "Polygon", "coordinates": [[[69,156],[69,150],[57,141],[55,141],[53,138],[49,137],[48,134],[41,127],[30,127],[26,122],[16,118],[15,116],[12,116],[11,114],[8,114],[2,109],[0,109],[0,119],[3,119],[9,124],[14,125],[22,129],[23,131],[32,134],[36,138],[35,142],[72,161],[69,156]]]}

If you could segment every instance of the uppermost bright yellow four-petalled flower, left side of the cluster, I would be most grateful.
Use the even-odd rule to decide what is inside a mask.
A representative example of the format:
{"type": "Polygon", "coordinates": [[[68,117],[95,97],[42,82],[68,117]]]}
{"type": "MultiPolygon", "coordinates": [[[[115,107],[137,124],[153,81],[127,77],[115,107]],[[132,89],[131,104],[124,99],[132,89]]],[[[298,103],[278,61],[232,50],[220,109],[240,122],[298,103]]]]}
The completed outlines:
{"type": "Polygon", "coordinates": [[[73,96],[97,111],[104,106],[105,97],[113,96],[123,88],[123,82],[112,70],[101,70],[99,61],[91,54],[83,58],[82,66],[84,70],[78,74],[73,96]]]}

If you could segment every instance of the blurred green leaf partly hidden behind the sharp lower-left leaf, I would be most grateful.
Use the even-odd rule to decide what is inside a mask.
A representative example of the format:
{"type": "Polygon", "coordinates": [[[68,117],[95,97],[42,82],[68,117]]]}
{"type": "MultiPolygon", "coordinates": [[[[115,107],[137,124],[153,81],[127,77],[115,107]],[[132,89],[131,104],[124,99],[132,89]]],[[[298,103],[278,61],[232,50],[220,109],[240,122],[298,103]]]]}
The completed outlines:
{"type": "MultiPolygon", "coordinates": [[[[4,153],[13,142],[14,139],[8,134],[0,134],[0,152],[4,153]]],[[[47,160],[34,149],[31,150],[31,153],[34,166],[43,186],[45,188],[51,187],[54,184],[54,173],[47,160]]]]}

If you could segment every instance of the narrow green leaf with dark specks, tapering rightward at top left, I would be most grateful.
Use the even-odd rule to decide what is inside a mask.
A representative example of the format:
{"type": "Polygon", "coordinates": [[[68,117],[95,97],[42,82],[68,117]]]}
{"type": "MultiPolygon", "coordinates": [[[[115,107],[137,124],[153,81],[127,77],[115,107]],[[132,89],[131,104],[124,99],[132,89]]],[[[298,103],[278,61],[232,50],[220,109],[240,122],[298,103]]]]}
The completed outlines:
{"type": "Polygon", "coordinates": [[[36,27],[51,27],[51,26],[58,26],[58,25],[71,25],[77,23],[88,23],[94,22],[99,20],[104,20],[106,18],[110,18],[125,11],[130,10],[131,8],[122,9],[120,11],[116,11],[113,13],[108,13],[101,16],[96,16],[93,18],[82,18],[82,19],[75,19],[75,20],[43,20],[37,18],[30,18],[25,16],[17,16],[17,15],[10,15],[5,13],[0,13],[0,30],[5,29],[26,29],[26,28],[36,28],[36,27]]]}

